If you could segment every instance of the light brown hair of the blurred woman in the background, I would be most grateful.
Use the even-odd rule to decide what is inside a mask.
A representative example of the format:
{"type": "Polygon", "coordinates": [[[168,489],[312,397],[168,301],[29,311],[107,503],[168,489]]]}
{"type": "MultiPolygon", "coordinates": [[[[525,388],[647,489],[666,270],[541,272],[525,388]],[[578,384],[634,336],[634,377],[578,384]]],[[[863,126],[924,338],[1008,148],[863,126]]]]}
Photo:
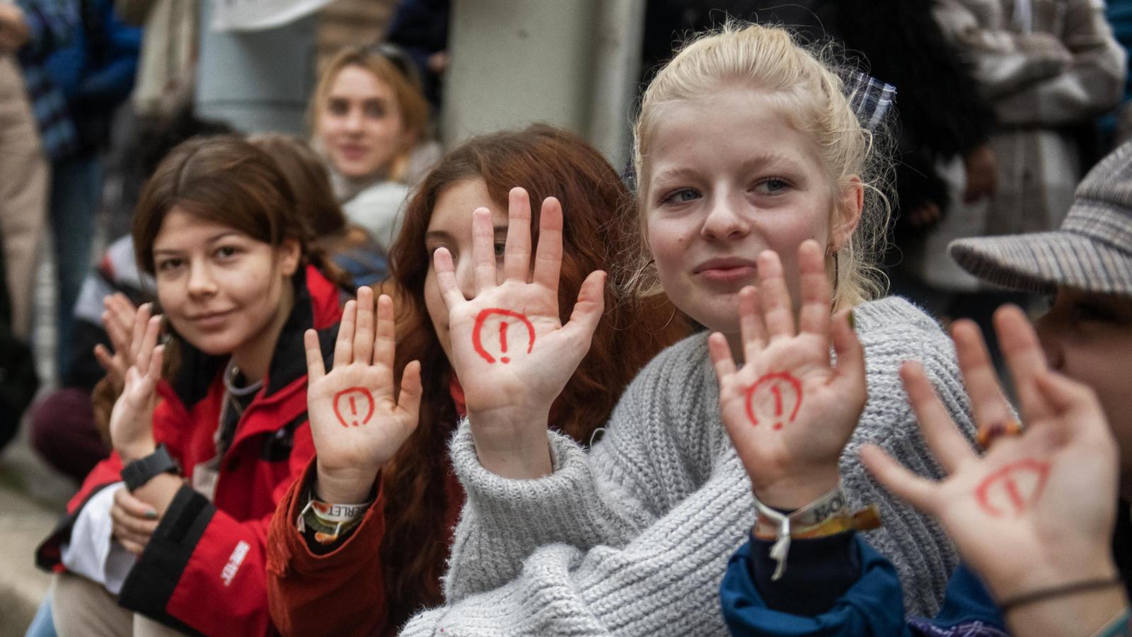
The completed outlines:
{"type": "Polygon", "coordinates": [[[331,87],[342,69],[357,66],[374,74],[393,90],[401,113],[401,126],[404,127],[404,147],[397,148],[393,164],[389,165],[388,178],[394,181],[405,181],[409,172],[409,156],[413,147],[424,137],[428,127],[428,100],[421,92],[420,80],[397,68],[389,58],[376,49],[365,46],[346,46],[331,58],[318,75],[318,84],[311,94],[308,107],[308,119],[312,134],[318,131],[319,113],[326,108],[331,96],[331,87]]]}

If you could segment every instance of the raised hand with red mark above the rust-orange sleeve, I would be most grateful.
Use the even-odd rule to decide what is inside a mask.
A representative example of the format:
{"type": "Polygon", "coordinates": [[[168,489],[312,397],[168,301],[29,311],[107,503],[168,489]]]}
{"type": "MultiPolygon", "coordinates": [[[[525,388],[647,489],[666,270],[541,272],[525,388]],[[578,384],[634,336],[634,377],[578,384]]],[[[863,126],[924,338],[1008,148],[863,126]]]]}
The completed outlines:
{"type": "Polygon", "coordinates": [[[326,373],[318,333],[307,330],[307,415],[318,452],[318,495],[341,504],[366,500],[377,473],[417,428],[421,366],[413,360],[394,388],[393,300],[381,295],[374,317],[374,290],[358,289],[346,303],[326,373]],[[376,324],[375,324],[376,323],[376,324]]]}

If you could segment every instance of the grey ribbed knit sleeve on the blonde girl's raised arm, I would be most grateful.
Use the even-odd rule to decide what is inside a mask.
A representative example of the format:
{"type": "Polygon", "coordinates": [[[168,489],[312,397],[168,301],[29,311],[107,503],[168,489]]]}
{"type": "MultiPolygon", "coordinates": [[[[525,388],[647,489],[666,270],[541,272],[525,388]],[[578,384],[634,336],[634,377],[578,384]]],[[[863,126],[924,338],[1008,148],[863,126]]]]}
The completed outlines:
{"type": "MultiPolygon", "coordinates": [[[[695,343],[676,349],[688,346],[695,343]]],[[[681,399],[679,388],[687,387],[672,381],[689,372],[684,356],[662,355],[651,363],[626,389],[590,453],[569,438],[548,432],[554,472],[538,479],[506,479],[484,469],[468,422],[461,423],[451,453],[468,500],[445,576],[446,600],[511,581],[539,546],[625,546],[657,521],[668,507],[659,502],[662,489],[650,474],[671,459],[672,431],[661,423],[672,411],[668,404],[681,399]]]]}

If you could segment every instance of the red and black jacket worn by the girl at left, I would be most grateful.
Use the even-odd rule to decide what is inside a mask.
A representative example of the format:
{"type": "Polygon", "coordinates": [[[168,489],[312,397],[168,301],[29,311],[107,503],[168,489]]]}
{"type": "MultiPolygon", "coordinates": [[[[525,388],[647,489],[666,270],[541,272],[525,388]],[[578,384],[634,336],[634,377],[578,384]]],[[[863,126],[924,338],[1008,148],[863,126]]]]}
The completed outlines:
{"type": "MultiPolygon", "coordinates": [[[[294,308],[280,333],[264,387],[245,409],[221,462],[209,502],[185,485],[138,557],[119,604],[168,626],[203,635],[269,635],[267,527],[291,483],[315,456],[307,422],[307,359],[302,334],[318,330],[332,350],[342,309],[338,290],[308,266],[294,278],[294,308]]],[[[226,357],[181,343],[172,382],[153,430],[191,478],[194,468],[216,456],[214,438],[224,398],[226,357]]],[[[117,453],[100,462],[67,504],[67,517],[36,552],[40,567],[62,570],[61,545],[79,510],[98,490],[119,482],[117,453]]]]}

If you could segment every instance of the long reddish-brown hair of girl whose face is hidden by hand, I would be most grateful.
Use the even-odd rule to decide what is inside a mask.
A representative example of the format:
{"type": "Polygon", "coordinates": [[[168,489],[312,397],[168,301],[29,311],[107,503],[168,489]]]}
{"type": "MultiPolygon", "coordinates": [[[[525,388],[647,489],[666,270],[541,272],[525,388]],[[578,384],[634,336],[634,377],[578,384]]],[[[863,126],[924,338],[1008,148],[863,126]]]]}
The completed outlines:
{"type": "MultiPolygon", "coordinates": [[[[383,469],[386,534],[381,564],[391,626],[398,626],[421,606],[441,602],[439,579],[451,532],[444,528],[447,503],[441,496],[449,470],[446,441],[457,416],[448,390],[451,366],[424,307],[431,258],[424,249],[424,233],[440,195],[471,179],[482,179],[499,205],[505,205],[514,186],[526,188],[532,202],[549,196],[561,202],[558,294],[563,321],[582,281],[590,272],[612,265],[625,230],[631,230],[618,218],[624,206],[632,205],[632,197],[612,167],[575,135],[544,125],[464,143],[437,163],[409,202],[401,236],[389,250],[393,275],[385,288],[398,311],[396,377],[414,359],[428,373],[422,377],[420,424],[383,469]]],[[[535,210],[534,228],[538,216],[535,210]]],[[[589,444],[637,371],[687,332],[687,323],[676,316],[667,298],[627,300],[607,287],[604,316],[590,351],[555,404],[560,415],[556,428],[589,444]]]]}

